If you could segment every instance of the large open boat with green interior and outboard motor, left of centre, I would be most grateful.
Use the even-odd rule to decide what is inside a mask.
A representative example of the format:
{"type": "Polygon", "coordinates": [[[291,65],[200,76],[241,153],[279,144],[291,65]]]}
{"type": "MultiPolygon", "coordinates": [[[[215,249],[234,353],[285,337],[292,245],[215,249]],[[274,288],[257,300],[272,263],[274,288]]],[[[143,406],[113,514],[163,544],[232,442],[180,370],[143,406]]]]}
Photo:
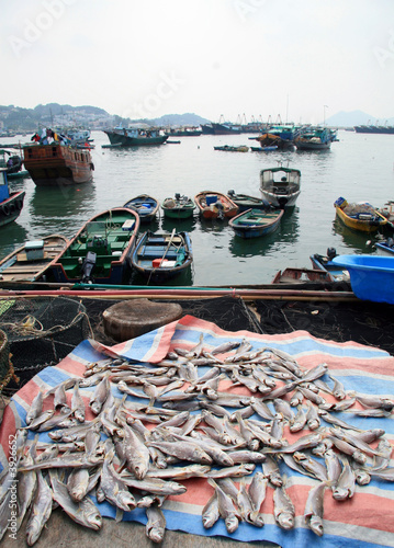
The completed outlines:
{"type": "Polygon", "coordinates": [[[50,266],[60,283],[123,284],[139,230],[133,209],[114,207],[88,220],[50,266]]]}

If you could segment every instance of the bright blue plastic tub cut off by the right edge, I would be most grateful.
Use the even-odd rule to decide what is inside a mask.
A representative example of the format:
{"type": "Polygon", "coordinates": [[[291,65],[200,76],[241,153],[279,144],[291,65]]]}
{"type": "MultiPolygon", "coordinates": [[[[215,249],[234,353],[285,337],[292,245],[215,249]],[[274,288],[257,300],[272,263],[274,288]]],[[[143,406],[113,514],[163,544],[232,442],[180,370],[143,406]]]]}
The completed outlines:
{"type": "Polygon", "coordinates": [[[339,255],[333,263],[349,272],[351,288],[359,299],[394,305],[394,258],[339,255]]]}

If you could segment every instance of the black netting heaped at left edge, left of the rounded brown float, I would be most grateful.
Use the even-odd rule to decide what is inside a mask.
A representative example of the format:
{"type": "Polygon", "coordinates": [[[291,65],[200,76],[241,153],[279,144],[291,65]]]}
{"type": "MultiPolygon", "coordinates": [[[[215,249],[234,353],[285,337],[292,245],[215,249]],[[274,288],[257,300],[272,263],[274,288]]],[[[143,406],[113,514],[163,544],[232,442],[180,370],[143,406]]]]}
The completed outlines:
{"type": "MultiPolygon", "coordinates": [[[[65,297],[0,299],[0,329],[8,336],[19,389],[36,373],[56,365],[90,336],[85,306],[65,297]]],[[[15,386],[16,385],[16,386],[15,386]]]]}

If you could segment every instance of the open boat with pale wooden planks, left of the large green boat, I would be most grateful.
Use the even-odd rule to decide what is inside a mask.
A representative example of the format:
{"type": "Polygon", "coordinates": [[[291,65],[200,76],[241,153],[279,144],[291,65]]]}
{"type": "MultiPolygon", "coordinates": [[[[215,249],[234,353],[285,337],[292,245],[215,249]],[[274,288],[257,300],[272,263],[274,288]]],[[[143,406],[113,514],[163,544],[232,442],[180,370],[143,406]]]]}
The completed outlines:
{"type": "Polygon", "coordinates": [[[68,239],[61,235],[26,241],[0,261],[1,282],[35,282],[44,279],[50,265],[66,249],[68,239]]]}

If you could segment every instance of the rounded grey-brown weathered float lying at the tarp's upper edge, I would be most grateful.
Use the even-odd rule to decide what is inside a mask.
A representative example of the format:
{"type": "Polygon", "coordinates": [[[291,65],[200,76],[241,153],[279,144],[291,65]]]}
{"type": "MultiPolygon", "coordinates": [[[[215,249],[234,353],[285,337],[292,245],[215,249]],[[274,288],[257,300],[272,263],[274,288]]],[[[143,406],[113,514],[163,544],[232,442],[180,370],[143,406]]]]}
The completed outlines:
{"type": "Polygon", "coordinates": [[[102,318],[105,334],[123,342],[179,320],[182,315],[182,307],[176,302],[142,298],[116,302],[103,311],[102,318]]]}

